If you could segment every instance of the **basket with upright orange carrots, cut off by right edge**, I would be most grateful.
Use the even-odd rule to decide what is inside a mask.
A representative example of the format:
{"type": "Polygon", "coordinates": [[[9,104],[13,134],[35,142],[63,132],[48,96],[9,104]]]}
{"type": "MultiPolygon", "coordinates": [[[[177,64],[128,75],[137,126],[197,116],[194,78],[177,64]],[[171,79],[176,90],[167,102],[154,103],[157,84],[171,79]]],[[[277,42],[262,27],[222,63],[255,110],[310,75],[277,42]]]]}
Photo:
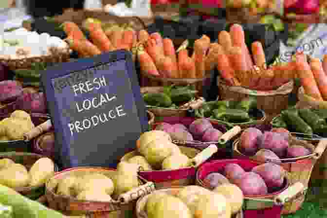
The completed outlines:
{"type": "Polygon", "coordinates": [[[302,85],[298,91],[297,106],[327,109],[327,55],[321,61],[298,54],[296,68],[302,85]]]}

